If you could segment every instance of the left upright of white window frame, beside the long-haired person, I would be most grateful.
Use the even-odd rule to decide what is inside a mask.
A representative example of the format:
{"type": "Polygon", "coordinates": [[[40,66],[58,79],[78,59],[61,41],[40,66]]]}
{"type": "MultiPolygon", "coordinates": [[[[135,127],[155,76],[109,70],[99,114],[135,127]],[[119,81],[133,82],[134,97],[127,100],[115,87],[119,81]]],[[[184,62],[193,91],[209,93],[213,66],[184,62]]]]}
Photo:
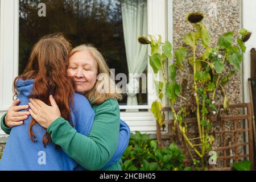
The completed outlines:
{"type": "MultiPolygon", "coordinates": [[[[18,76],[19,1],[0,1],[0,116],[13,100],[13,80],[18,76]]],[[[0,130],[0,135],[3,132],[0,130]]]]}

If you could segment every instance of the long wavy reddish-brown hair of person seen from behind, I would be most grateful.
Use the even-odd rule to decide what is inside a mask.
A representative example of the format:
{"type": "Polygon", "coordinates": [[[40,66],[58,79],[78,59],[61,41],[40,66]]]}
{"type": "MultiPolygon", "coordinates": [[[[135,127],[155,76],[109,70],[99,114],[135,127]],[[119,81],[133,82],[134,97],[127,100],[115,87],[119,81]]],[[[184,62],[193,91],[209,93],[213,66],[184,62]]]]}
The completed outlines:
{"type": "MultiPolygon", "coordinates": [[[[71,44],[61,34],[51,34],[41,38],[32,49],[28,64],[22,75],[14,80],[14,94],[17,95],[16,81],[35,79],[34,88],[30,98],[37,98],[47,105],[50,105],[49,95],[52,94],[59,106],[61,117],[69,121],[75,84],[67,75],[68,53],[71,51],[71,44]]],[[[70,122],[72,125],[72,123],[70,122]]],[[[32,142],[36,142],[36,135],[32,127],[36,121],[32,119],[29,126],[29,134],[32,142]]],[[[42,138],[44,147],[51,140],[46,132],[42,138]]]]}

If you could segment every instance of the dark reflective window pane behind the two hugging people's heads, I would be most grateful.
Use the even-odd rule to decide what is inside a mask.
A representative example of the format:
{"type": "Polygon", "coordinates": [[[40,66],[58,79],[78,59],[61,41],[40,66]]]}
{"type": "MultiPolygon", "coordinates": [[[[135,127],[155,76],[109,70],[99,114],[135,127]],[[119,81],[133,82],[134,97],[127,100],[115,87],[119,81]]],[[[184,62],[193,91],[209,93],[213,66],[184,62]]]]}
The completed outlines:
{"type": "MultiPolygon", "coordinates": [[[[109,68],[115,69],[115,75],[125,73],[128,78],[121,1],[19,0],[19,75],[34,44],[42,36],[56,32],[71,40],[73,47],[92,44],[105,57],[109,68]],[[40,2],[46,5],[45,17],[38,14],[40,2]]],[[[137,94],[137,99],[138,105],[147,105],[147,93],[137,94]]],[[[119,104],[126,103],[125,95],[119,104]]]]}

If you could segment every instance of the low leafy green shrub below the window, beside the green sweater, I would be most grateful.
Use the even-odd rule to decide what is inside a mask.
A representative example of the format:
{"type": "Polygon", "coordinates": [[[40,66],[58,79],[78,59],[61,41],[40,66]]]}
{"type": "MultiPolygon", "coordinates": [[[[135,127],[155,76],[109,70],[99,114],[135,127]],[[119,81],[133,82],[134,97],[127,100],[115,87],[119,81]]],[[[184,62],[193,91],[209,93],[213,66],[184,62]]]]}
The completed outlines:
{"type": "Polygon", "coordinates": [[[151,140],[149,134],[136,131],[131,134],[129,146],[122,156],[122,170],[190,170],[184,167],[184,158],[183,151],[175,143],[171,143],[168,148],[158,148],[156,140],[151,140]]]}

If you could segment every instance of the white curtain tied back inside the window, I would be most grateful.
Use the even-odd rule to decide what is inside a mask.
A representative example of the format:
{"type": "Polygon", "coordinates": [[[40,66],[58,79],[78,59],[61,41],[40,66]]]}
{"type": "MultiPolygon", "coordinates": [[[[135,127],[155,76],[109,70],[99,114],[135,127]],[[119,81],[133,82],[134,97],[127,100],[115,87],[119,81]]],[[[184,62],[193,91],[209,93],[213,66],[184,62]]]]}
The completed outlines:
{"type": "MultiPolygon", "coordinates": [[[[122,0],[122,22],[125,38],[125,50],[129,71],[129,83],[126,85],[127,105],[138,105],[138,77],[147,66],[147,46],[138,42],[139,36],[147,35],[147,1],[122,0]]],[[[126,111],[138,111],[128,109],[126,111]]]]}

